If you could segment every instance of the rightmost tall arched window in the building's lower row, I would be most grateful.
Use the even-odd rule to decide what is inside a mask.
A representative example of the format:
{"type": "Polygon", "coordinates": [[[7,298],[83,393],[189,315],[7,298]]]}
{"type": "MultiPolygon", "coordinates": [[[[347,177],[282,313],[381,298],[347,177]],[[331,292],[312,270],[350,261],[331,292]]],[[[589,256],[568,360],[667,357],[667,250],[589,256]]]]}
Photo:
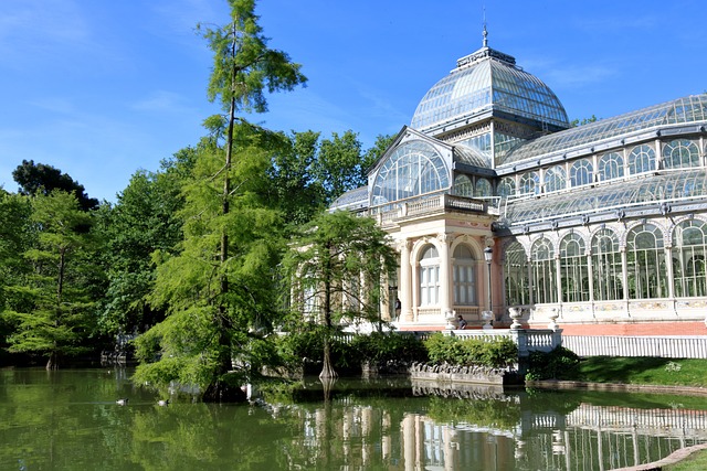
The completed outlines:
{"type": "Polygon", "coordinates": [[[675,296],[707,296],[707,223],[684,221],[673,233],[673,276],[675,296]]]}

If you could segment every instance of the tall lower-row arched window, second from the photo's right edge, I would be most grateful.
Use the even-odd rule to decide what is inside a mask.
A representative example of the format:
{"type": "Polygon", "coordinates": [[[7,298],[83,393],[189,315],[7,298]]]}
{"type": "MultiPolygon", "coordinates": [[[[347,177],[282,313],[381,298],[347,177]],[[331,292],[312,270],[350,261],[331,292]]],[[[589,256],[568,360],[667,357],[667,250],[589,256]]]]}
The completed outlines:
{"type": "Polygon", "coordinates": [[[641,224],[629,232],[626,271],[630,299],[654,299],[667,296],[663,233],[653,224],[641,224]]]}

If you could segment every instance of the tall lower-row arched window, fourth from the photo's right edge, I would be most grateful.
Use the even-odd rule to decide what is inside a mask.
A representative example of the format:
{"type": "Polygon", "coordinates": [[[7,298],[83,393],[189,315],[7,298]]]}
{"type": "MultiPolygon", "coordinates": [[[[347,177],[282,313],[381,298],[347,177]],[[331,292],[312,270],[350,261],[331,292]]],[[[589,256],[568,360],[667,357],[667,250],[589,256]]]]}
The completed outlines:
{"type": "Polygon", "coordinates": [[[589,266],[584,240],[578,234],[568,234],[560,240],[560,280],[562,301],[589,301],[589,266]]]}

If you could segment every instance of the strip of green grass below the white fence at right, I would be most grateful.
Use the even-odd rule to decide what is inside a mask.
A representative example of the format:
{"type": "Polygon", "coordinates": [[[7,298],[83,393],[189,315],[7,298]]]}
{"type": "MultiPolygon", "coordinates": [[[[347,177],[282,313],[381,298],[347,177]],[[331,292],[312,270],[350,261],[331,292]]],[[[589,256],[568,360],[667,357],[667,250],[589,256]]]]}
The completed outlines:
{"type": "MultiPolygon", "coordinates": [[[[707,387],[707,360],[591,356],[576,377],[590,383],[707,387]]],[[[574,375],[573,375],[574,376],[574,375]]]]}

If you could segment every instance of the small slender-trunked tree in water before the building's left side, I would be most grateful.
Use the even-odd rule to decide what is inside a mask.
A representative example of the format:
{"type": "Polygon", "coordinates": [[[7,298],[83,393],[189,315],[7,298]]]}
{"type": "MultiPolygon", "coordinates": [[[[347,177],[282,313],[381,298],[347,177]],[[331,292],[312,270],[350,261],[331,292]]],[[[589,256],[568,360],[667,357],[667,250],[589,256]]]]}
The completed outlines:
{"type": "Polygon", "coordinates": [[[372,218],[323,213],[295,238],[284,267],[298,296],[295,311],[326,327],[320,377],[336,376],[328,339],[335,322],[362,318],[380,328],[380,301],[388,295],[383,281],[398,267],[395,250],[372,218]]]}

